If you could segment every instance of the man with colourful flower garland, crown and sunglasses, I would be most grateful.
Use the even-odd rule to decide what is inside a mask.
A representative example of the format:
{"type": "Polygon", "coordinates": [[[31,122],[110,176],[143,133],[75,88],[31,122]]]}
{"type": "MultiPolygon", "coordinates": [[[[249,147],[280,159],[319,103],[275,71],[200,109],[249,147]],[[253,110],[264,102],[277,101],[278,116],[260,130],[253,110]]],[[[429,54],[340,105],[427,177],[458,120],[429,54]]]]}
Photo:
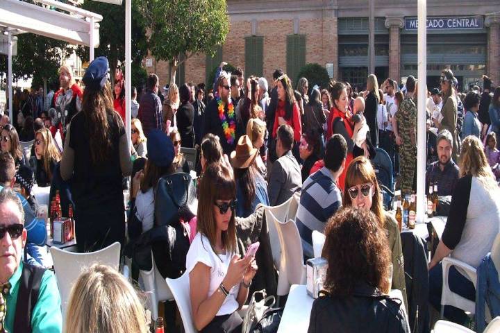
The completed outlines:
{"type": "Polygon", "coordinates": [[[229,91],[231,73],[221,71],[217,78],[217,97],[208,103],[205,109],[205,129],[203,136],[212,133],[219,137],[224,154],[229,155],[235,149],[236,116],[235,105],[229,91]]]}

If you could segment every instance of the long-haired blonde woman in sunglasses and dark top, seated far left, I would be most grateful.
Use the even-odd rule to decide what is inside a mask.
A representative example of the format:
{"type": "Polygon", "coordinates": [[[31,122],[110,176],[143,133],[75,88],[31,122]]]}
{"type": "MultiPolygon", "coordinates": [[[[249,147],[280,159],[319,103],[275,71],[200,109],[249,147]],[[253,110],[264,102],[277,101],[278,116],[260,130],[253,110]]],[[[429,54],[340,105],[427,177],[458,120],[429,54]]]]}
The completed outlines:
{"type": "Polygon", "coordinates": [[[56,168],[61,156],[58,148],[53,143],[50,130],[47,128],[38,130],[35,135],[35,156],[37,159],[36,182],[41,187],[50,186],[54,168],[56,168]]]}

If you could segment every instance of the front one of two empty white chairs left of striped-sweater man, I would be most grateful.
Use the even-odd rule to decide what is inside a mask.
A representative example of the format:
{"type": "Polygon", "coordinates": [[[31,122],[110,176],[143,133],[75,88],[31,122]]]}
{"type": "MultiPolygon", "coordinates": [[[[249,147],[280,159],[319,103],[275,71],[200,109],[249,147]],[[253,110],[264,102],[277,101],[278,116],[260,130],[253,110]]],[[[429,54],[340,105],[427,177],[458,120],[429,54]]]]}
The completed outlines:
{"type": "Polygon", "coordinates": [[[306,284],[306,265],[303,264],[302,243],[297,225],[292,220],[281,222],[269,212],[278,232],[281,259],[278,268],[278,296],[287,295],[292,284],[306,284]]]}

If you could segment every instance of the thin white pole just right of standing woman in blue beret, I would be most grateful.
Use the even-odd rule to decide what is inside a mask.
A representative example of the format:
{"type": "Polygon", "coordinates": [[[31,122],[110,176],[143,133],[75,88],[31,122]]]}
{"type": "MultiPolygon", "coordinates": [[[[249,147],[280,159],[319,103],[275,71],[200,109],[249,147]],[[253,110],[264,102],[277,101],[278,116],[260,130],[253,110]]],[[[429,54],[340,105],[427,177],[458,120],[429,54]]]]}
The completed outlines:
{"type": "Polygon", "coordinates": [[[132,0],[125,1],[125,130],[131,144],[131,94],[132,94],[132,0]]]}

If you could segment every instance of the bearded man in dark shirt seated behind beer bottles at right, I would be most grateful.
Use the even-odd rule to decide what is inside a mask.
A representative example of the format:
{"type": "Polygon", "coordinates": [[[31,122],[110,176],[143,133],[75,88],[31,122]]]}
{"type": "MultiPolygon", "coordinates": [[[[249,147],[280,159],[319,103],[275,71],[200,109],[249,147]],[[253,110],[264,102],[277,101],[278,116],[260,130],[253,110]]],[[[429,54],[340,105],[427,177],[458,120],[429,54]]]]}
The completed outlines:
{"type": "Polygon", "coordinates": [[[451,196],[458,178],[458,165],[451,159],[453,137],[449,130],[442,130],[437,135],[437,161],[428,166],[426,171],[426,193],[429,185],[437,183],[437,194],[451,196]]]}

